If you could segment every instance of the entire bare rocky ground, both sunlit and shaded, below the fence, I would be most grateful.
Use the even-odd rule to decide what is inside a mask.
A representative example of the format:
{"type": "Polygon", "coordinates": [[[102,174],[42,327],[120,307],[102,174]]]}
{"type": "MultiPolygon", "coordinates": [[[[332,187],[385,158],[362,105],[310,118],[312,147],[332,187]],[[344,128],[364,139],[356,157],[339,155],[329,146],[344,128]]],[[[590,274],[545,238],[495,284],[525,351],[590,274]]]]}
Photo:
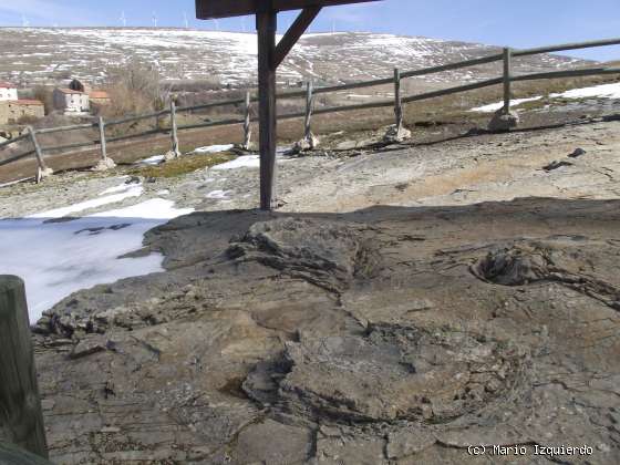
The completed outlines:
{"type": "Polygon", "coordinates": [[[145,179],[196,209],[145,238],[166,272],[37,324],[55,463],[620,461],[620,122],[341,148],[281,162],[271,214],[255,168],[145,179]]]}

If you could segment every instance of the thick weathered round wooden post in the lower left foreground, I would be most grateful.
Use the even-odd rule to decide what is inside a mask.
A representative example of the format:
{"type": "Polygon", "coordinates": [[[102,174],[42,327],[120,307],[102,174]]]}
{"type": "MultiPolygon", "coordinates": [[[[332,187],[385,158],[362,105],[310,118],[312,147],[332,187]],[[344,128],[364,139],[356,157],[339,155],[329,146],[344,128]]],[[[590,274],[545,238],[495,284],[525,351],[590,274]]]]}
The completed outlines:
{"type": "Polygon", "coordinates": [[[0,441],[48,457],[23,281],[0,276],[0,441]]]}

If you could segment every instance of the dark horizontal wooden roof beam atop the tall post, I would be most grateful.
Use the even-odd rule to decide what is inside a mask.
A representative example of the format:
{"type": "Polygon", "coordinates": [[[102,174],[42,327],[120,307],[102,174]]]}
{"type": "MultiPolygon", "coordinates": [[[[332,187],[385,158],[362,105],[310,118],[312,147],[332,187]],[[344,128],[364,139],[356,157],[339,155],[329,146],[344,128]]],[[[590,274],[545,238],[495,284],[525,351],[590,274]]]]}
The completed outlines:
{"type": "MultiPolygon", "coordinates": [[[[196,0],[197,19],[241,17],[259,12],[262,0],[196,0]]],[[[334,7],[378,0],[270,0],[271,11],[302,10],[308,7],[334,7]]]]}

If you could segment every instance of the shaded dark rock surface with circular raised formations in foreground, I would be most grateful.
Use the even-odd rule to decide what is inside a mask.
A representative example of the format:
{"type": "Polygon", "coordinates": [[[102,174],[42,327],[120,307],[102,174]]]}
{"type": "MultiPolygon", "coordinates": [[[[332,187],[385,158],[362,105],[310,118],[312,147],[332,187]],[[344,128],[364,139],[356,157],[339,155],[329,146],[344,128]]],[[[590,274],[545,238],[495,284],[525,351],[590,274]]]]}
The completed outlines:
{"type": "Polygon", "coordinates": [[[40,324],[53,456],[456,464],[472,444],[600,444],[593,463],[617,463],[619,207],[173,220],[147,239],[168,273],[40,324]]]}

